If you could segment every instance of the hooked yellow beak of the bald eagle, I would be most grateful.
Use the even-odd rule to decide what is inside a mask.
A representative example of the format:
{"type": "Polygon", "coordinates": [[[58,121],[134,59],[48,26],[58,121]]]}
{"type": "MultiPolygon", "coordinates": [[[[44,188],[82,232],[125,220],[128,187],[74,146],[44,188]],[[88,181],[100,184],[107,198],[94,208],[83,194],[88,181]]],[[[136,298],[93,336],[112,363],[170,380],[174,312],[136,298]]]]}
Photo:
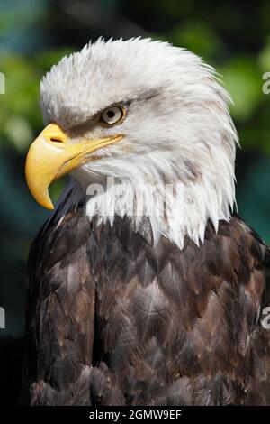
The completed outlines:
{"type": "Polygon", "coordinates": [[[119,142],[122,135],[75,143],[57,124],[49,124],[31,144],[25,163],[25,176],[32,196],[41,206],[53,209],[49,184],[88,161],[90,153],[119,142]]]}

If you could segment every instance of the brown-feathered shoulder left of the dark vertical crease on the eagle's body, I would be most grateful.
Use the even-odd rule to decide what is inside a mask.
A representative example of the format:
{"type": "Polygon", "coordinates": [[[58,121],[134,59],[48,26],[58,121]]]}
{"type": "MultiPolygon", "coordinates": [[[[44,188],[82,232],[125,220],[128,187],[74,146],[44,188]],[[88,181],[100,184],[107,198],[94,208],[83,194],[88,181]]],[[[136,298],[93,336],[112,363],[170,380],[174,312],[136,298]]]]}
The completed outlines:
{"type": "Polygon", "coordinates": [[[24,402],[89,402],[94,338],[94,279],[82,207],[50,218],[31,246],[24,402]]]}

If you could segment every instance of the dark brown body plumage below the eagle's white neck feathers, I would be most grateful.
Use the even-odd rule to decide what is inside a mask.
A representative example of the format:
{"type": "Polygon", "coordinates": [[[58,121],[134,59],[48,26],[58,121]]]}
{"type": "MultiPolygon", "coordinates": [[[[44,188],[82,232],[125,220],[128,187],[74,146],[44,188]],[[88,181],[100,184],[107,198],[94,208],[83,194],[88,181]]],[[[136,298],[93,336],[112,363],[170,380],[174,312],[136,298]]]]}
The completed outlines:
{"type": "Polygon", "coordinates": [[[147,218],[58,215],[31,248],[23,402],[269,404],[270,253],[240,218],[180,251],[147,218]]]}

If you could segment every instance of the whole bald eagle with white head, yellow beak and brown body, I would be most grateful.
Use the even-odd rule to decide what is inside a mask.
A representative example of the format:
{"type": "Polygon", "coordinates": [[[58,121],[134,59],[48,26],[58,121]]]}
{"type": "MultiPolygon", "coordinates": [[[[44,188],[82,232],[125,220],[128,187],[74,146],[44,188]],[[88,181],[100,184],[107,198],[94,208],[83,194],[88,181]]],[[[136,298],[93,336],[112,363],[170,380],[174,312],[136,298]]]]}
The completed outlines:
{"type": "Polygon", "coordinates": [[[233,213],[229,95],[190,51],[98,40],[40,85],[24,402],[270,403],[270,252],[233,213]]]}

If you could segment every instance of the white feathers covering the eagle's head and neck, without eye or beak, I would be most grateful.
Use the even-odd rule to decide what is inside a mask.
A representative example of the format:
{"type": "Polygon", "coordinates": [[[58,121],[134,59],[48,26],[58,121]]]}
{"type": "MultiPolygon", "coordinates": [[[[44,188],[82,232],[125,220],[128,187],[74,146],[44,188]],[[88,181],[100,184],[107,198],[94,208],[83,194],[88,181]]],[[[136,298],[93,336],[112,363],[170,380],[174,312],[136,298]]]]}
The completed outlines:
{"type": "MultiPolygon", "coordinates": [[[[124,134],[98,152],[101,159],[73,172],[84,188],[116,179],[113,189],[88,199],[89,219],[97,214],[112,223],[115,213],[130,213],[130,204],[141,207],[148,197],[145,184],[156,185],[154,232],[180,248],[186,235],[203,241],[209,219],[216,230],[220,219],[229,220],[238,136],[228,104],[214,69],[190,51],[149,39],[98,40],[63,58],[41,82],[47,124],[67,130],[82,124],[91,138],[124,134]],[[105,128],[92,120],[118,103],[128,105],[121,124],[105,128]],[[166,213],[159,214],[164,184],[177,186],[178,196],[174,201],[175,192],[167,195],[166,213]],[[105,202],[111,209],[104,213],[105,202]]],[[[140,217],[134,219],[139,223],[140,217]]]]}

